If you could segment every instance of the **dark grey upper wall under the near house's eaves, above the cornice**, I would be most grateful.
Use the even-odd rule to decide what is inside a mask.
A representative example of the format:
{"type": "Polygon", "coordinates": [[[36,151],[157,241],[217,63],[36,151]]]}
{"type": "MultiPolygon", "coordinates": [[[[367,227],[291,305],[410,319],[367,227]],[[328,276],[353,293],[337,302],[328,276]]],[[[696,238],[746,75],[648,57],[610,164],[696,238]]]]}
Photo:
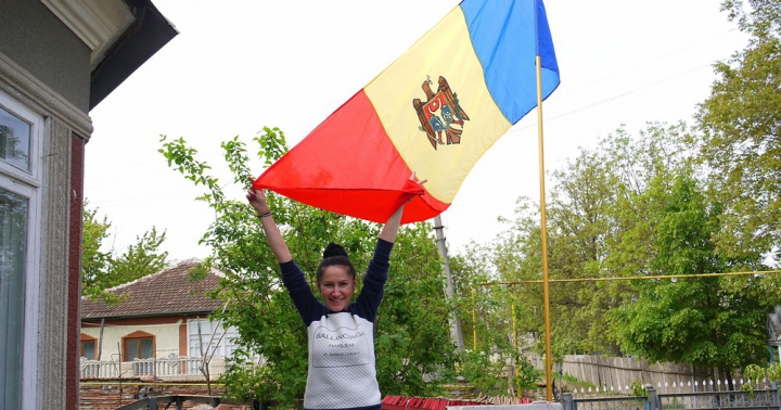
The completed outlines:
{"type": "Polygon", "coordinates": [[[91,50],[40,0],[0,1],[0,53],[82,112],[91,50]]]}

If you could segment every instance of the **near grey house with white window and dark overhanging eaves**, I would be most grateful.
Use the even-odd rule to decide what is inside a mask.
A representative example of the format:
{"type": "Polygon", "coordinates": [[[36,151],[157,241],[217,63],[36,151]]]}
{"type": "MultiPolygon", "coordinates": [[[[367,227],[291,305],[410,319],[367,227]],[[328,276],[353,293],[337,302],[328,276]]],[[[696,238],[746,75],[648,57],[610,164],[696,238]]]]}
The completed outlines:
{"type": "Polygon", "coordinates": [[[89,112],[177,30],[150,0],[0,16],[0,408],[76,410],[89,112]]]}

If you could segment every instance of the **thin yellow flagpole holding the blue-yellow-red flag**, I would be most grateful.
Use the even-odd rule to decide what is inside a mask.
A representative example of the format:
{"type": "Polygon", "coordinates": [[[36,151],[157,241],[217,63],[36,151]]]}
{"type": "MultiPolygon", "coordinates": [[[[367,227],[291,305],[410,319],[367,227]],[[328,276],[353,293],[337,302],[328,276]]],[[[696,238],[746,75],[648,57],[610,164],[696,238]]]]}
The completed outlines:
{"type": "Polygon", "coordinates": [[[545,149],[542,144],[542,68],[539,54],[535,59],[537,65],[537,140],[539,144],[539,168],[540,168],[540,215],[542,234],[542,304],[545,311],[545,334],[546,334],[546,397],[548,401],[553,400],[553,376],[551,358],[550,337],[550,295],[548,293],[548,229],[546,221],[545,201],[545,149]]]}

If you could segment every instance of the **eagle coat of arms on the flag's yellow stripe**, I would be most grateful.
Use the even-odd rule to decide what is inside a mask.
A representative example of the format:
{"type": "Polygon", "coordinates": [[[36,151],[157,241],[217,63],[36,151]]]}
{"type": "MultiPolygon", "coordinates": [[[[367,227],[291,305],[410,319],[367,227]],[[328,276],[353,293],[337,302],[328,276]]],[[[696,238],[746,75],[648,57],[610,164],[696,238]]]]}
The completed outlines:
{"type": "Polygon", "coordinates": [[[428,77],[421,86],[426,94],[425,102],[421,99],[412,100],[412,106],[421,123],[420,130],[426,133],[434,150],[437,149],[437,145],[459,144],[464,120],[470,118],[459,105],[458,94],[452,92],[445,77],[439,76],[436,93],[432,91],[431,84],[432,80],[428,77]],[[443,140],[443,134],[445,134],[445,140],[443,140]]]}

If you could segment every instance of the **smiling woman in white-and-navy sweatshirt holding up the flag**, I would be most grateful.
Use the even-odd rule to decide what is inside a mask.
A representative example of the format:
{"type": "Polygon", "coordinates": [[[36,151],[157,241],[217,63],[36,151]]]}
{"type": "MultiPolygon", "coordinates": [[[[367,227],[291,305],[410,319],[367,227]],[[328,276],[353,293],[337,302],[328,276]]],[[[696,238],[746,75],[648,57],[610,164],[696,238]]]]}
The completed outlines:
{"type": "Polygon", "coordinates": [[[309,368],[304,409],[380,410],[374,318],[405,205],[385,222],[363,279],[363,289],[355,303],[350,303],[356,290],[355,268],[342,246],[329,244],[317,272],[317,285],[323,300],[320,303],[293,260],[266,202],[266,194],[253,189],[246,196],[260,218],[271,252],[280,264],[282,282],[307,328],[309,368]]]}

